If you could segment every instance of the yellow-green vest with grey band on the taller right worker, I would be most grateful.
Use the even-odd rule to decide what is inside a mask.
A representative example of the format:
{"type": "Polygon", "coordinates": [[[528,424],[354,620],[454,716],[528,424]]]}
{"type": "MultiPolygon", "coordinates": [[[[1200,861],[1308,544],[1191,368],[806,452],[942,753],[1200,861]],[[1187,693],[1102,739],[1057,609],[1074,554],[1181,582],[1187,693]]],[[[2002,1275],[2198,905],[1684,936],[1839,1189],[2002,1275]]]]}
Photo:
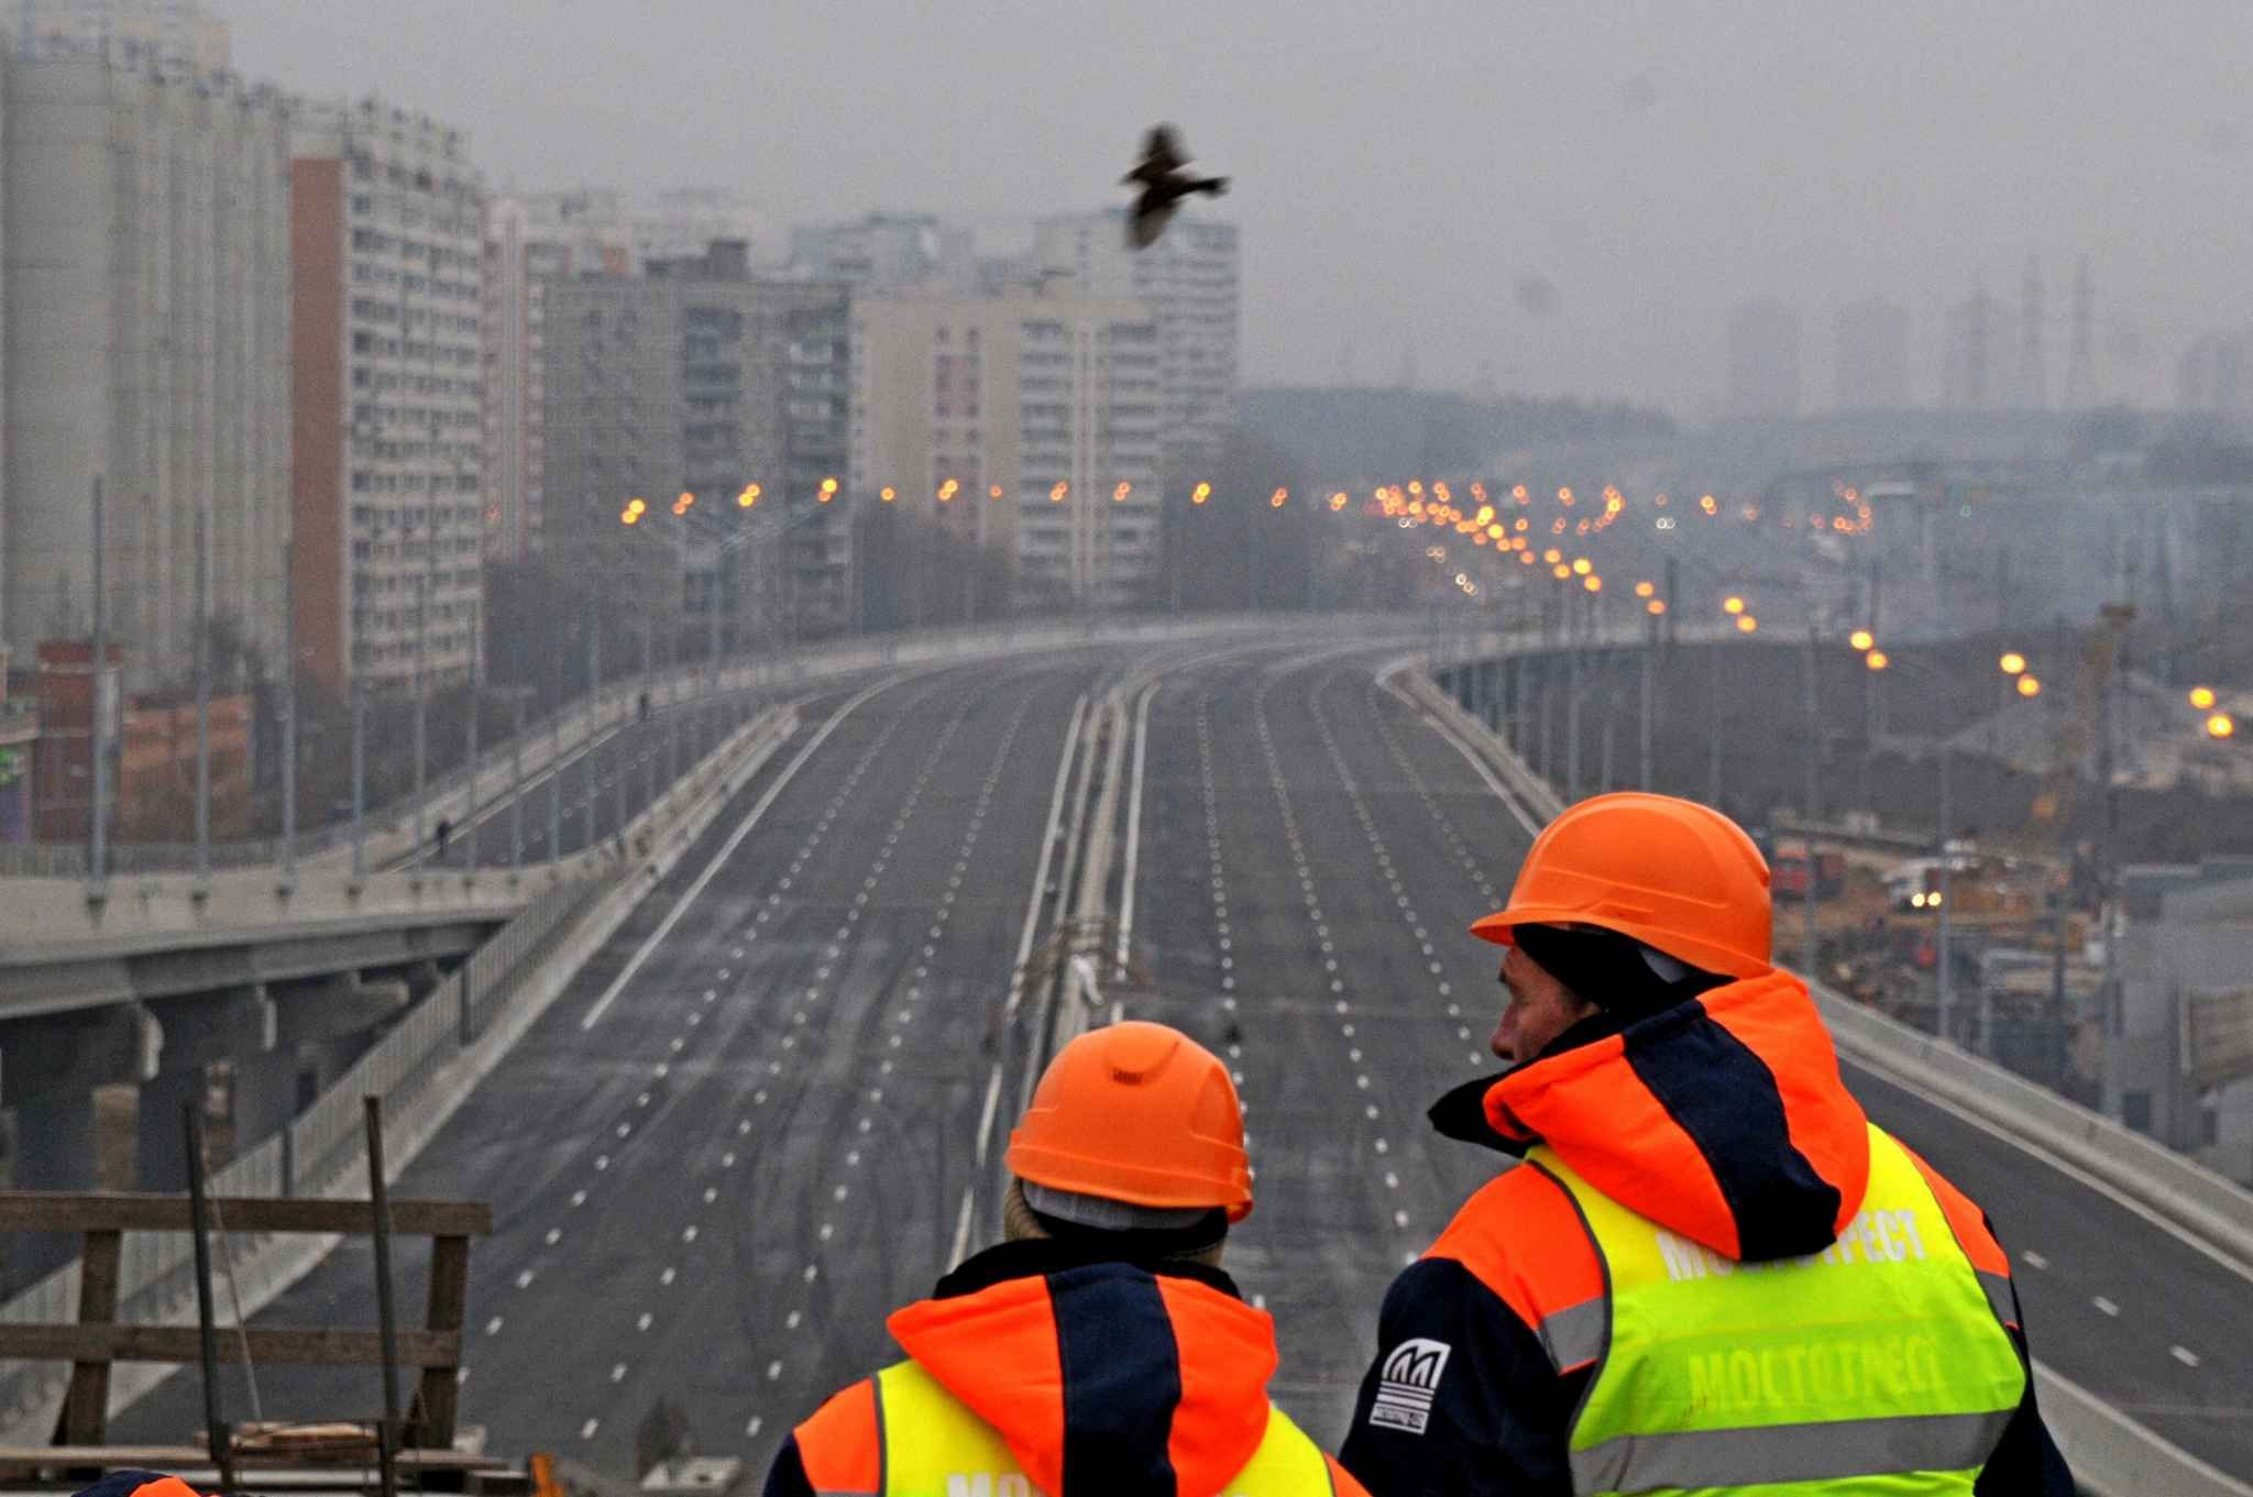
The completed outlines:
{"type": "MultiPolygon", "coordinates": [[[[1870,1128],[1870,1189],[1820,1254],[1735,1263],[1528,1159],[1604,1261],[1597,1371],[1573,1418],[1573,1490],[1969,1492],[2025,1393],[2010,1279],[1980,1274],[1908,1153],[1870,1128]]],[[[1541,1330],[1586,1360],[1588,1306],[1541,1330]]]]}

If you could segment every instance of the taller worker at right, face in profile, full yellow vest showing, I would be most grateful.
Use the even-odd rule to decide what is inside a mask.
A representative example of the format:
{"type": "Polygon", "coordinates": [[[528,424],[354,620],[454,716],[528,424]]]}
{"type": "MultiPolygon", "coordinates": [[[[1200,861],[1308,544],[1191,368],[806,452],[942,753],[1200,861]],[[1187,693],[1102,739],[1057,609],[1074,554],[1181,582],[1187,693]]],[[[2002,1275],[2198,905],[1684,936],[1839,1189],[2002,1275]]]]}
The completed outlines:
{"type": "Polygon", "coordinates": [[[1863,1117],[1769,927],[1753,840],[1667,795],[1568,808],[1471,925],[1507,1069],[1431,1119],[1523,1164],[1386,1294],[1341,1450],[1377,1497],[2071,1497],[2010,1258],[1863,1117]]]}

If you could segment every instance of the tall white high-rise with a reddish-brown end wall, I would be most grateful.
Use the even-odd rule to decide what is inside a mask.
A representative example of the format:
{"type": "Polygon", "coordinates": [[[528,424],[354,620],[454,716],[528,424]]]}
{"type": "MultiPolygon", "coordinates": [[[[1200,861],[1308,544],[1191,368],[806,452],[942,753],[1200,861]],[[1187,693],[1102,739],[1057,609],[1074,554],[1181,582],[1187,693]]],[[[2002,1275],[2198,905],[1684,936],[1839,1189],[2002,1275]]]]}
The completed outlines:
{"type": "Polygon", "coordinates": [[[379,99],[300,106],[291,162],[300,657],[331,684],[462,680],[478,651],[484,185],[379,99]]]}

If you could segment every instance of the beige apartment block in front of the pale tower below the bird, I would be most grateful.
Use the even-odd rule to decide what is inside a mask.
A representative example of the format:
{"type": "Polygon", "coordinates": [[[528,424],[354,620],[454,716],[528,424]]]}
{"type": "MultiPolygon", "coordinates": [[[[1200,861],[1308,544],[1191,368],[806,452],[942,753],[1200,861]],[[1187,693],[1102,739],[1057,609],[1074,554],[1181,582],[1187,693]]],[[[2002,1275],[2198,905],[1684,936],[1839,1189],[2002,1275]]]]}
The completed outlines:
{"type": "Polygon", "coordinates": [[[863,502],[894,486],[921,518],[1005,549],[1021,603],[1108,608],[1147,590],[1165,419],[1151,308],[1057,286],[867,297],[852,322],[863,502]]]}

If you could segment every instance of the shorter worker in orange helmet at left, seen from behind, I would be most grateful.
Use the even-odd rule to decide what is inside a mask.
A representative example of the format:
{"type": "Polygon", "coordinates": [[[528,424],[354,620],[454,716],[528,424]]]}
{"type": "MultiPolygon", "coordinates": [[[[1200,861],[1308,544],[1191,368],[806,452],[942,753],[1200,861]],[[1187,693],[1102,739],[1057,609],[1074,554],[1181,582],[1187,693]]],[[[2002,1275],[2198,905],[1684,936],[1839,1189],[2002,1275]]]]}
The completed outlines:
{"type": "Polygon", "coordinates": [[[766,1497],[1365,1497],[1268,1402],[1275,1326],[1221,1272],[1253,1182],[1212,1051],[1079,1036],[1007,1164],[1003,1243],[885,1321],[906,1360],[798,1425],[766,1497]]]}

